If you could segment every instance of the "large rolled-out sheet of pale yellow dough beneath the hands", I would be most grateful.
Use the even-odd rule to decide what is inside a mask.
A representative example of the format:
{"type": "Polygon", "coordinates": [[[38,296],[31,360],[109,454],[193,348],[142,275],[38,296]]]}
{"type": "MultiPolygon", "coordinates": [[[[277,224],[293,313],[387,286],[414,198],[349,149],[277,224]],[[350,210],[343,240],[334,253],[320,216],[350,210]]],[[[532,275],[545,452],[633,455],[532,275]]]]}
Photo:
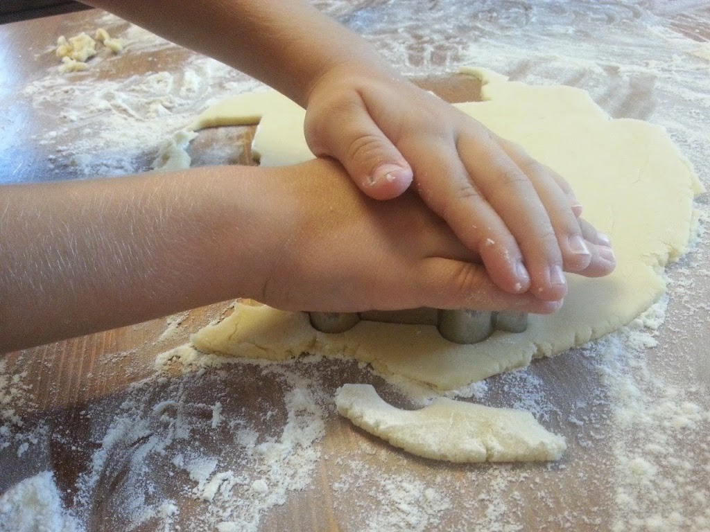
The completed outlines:
{"type": "MultiPolygon", "coordinates": [[[[524,333],[496,333],[475,345],[443,340],[433,326],[361,321],[342,334],[315,331],[305,314],[237,304],[221,323],[198,331],[200,350],[273,360],[301,349],[368,362],[441,390],[458,389],[525,367],[620,328],[665,290],[663,269],[684,252],[694,226],[693,198],[703,191],[689,162],[665,131],[611,119],[586,92],[508,82],[485,70],[484,101],[457,104],[488,128],[528,150],[572,184],[585,217],[610,235],[616,270],[588,279],[568,275],[569,294],[552,316],[530,316],[524,333]],[[281,328],[271,324],[279,323],[281,328]]],[[[254,123],[263,165],[312,158],[302,133],[303,110],[275,92],[246,94],[208,109],[195,127],[254,123]]]]}

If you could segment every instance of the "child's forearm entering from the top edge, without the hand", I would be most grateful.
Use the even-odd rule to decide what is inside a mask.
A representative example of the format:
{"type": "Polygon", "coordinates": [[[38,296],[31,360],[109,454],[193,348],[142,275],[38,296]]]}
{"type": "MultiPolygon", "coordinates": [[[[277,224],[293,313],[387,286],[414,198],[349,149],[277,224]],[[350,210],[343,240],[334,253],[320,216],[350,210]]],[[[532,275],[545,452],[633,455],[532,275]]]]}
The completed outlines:
{"type": "Polygon", "coordinates": [[[86,0],[261,79],[297,103],[330,67],[379,65],[373,48],[302,0],[86,0]]]}

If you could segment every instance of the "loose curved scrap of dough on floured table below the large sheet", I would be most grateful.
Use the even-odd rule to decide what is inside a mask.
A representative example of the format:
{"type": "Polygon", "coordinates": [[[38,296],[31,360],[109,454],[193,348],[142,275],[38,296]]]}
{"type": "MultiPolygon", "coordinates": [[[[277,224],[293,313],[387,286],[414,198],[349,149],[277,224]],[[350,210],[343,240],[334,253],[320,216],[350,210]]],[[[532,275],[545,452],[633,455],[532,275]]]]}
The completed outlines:
{"type": "Polygon", "coordinates": [[[342,416],[413,455],[449,462],[558,460],[567,445],[529,412],[437,397],[421,410],[387,404],[370,384],[335,393],[342,416]]]}

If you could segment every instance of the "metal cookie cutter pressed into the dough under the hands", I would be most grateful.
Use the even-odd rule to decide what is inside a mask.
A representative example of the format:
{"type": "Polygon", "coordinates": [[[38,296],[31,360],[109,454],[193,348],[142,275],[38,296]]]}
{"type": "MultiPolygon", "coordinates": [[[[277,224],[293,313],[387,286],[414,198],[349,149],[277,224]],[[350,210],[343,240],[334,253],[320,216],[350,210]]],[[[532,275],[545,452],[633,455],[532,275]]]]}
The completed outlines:
{"type": "Polygon", "coordinates": [[[405,311],[309,312],[313,328],[322,333],[342,333],[360,320],[435,325],[439,334],[454,343],[479,343],[494,331],[522,333],[528,328],[526,312],[411,309],[405,311]]]}

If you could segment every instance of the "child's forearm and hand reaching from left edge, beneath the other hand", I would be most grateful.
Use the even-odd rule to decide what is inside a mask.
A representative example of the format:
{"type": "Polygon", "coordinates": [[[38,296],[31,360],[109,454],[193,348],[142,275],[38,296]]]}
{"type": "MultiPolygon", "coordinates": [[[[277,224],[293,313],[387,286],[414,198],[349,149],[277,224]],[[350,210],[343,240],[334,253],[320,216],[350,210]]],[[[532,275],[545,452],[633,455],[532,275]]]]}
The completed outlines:
{"type": "Polygon", "coordinates": [[[517,309],[413,193],[342,167],[209,167],[0,190],[0,353],[235,297],[286,310],[517,309]]]}

